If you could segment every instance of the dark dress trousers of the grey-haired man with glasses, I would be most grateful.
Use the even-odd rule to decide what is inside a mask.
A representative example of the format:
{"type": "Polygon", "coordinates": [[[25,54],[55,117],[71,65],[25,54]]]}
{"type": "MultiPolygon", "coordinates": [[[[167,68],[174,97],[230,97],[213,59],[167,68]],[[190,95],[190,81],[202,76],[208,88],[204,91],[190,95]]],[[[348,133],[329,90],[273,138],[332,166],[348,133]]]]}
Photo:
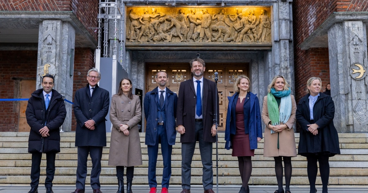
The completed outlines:
{"type": "Polygon", "coordinates": [[[91,187],[93,190],[101,188],[100,173],[101,173],[102,147],[81,146],[78,147],[77,181],[75,182],[75,186],[81,190],[85,189],[88,154],[92,160],[91,187]]]}

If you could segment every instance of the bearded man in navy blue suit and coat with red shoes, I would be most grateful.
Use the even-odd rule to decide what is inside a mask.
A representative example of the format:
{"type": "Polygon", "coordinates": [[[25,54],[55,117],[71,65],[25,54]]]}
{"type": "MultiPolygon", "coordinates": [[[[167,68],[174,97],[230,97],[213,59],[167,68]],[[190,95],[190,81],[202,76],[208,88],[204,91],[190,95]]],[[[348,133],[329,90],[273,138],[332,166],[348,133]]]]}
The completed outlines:
{"type": "Polygon", "coordinates": [[[148,149],[149,193],[156,193],[156,162],[159,143],[163,158],[162,190],[168,193],[171,176],[171,152],[176,138],[176,105],[178,96],[165,85],[167,73],[159,71],[156,75],[158,87],[146,93],[144,114],[146,117],[146,145],[148,149]]]}

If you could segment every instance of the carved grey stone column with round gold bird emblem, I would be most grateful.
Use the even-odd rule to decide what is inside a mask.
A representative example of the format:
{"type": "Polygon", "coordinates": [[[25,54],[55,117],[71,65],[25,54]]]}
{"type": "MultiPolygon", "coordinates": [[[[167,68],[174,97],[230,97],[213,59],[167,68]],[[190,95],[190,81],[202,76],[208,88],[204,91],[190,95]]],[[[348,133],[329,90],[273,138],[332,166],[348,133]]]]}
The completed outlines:
{"type": "Polygon", "coordinates": [[[367,32],[362,21],[344,21],[328,31],[331,96],[339,132],[367,132],[367,32]]]}

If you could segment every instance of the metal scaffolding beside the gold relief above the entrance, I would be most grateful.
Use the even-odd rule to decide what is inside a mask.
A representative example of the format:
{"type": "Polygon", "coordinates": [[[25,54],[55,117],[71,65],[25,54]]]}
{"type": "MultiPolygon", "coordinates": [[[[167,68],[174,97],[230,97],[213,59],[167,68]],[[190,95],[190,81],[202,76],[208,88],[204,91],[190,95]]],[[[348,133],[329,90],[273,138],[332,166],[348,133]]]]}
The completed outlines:
{"type": "MultiPolygon", "coordinates": [[[[125,7],[122,0],[99,0],[99,12],[98,12],[98,47],[95,56],[96,66],[99,64],[99,57],[101,49],[103,51],[103,57],[119,58],[120,65],[123,64],[124,58],[124,33],[123,28],[125,25],[123,13],[125,7]],[[119,3],[120,2],[120,3],[119,3]],[[110,25],[113,26],[113,32],[110,32],[110,25]],[[102,27],[103,26],[103,27],[102,27]],[[120,29],[118,29],[120,28],[120,29]],[[102,35],[103,30],[103,35],[102,35]],[[109,33],[113,33],[113,39],[110,39],[109,33]],[[120,35],[119,35],[120,33],[120,35]],[[103,37],[103,40],[102,40],[103,37]],[[110,40],[113,40],[112,43],[110,40]],[[103,47],[101,47],[101,44],[103,47]],[[110,50],[111,47],[111,50],[110,50]],[[118,51],[118,49],[120,51],[118,51]]],[[[111,28],[110,28],[111,29],[111,28]]]]}

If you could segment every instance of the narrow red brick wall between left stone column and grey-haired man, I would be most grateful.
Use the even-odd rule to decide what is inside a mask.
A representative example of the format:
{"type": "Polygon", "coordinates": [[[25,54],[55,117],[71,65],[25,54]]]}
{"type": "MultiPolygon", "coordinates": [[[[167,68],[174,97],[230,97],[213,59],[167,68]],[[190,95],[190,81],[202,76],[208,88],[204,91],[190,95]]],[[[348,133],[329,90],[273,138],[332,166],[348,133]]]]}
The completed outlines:
{"type": "MultiPolygon", "coordinates": [[[[95,67],[93,53],[93,50],[89,48],[75,48],[73,101],[75,91],[82,87],[85,87],[88,83],[87,72],[89,71],[89,69],[95,67]]],[[[74,112],[72,112],[71,130],[75,131],[76,126],[77,121],[75,119],[74,112]]]]}

